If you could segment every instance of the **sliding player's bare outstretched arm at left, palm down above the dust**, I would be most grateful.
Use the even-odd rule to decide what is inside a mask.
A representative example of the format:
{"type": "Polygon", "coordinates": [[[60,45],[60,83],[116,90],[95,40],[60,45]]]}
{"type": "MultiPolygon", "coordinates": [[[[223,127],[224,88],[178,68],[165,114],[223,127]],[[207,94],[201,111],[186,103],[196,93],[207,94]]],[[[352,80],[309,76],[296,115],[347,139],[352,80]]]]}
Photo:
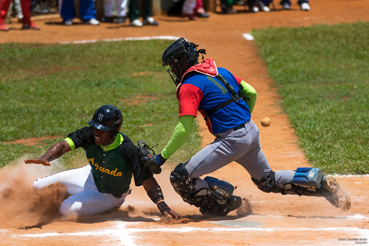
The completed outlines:
{"type": "Polygon", "coordinates": [[[34,163],[34,164],[42,164],[44,166],[50,166],[50,161],[55,160],[62,156],[63,154],[71,151],[71,147],[67,143],[67,141],[63,140],[60,142],[55,143],[53,146],[51,146],[45,154],[43,154],[40,157],[34,158],[34,159],[26,159],[24,163],[34,163]]]}

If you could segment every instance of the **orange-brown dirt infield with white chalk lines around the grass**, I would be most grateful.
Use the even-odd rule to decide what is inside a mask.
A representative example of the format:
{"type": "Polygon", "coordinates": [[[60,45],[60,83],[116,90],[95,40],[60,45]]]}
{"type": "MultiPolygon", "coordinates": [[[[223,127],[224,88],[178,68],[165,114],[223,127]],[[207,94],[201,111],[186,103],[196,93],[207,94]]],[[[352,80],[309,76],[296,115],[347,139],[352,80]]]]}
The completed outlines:
{"type": "MultiPolygon", "coordinates": [[[[274,171],[295,169],[310,164],[298,148],[297,137],[280,109],[279,96],[272,87],[273,81],[268,77],[255,43],[246,40],[243,34],[268,26],[369,21],[368,0],[311,0],[311,11],[308,12],[300,11],[296,2],[292,1],[290,11],[281,11],[278,1],[275,1],[275,11],[230,15],[210,13],[210,18],[197,21],[160,15],[155,16],[160,23],[158,27],[141,28],[107,23],[100,26],[63,26],[59,16],[44,15],[33,18],[41,26],[39,31],[20,30],[19,23],[9,24],[11,30],[0,33],[0,43],[183,36],[207,49],[207,57],[214,58],[218,66],[227,67],[256,89],[258,99],[252,119],[259,126],[262,149],[269,164],[274,171]],[[270,127],[260,125],[263,117],[271,119],[270,127]]],[[[237,9],[241,11],[243,7],[237,6],[237,9]]],[[[203,145],[206,145],[213,140],[213,136],[207,132],[203,122],[200,123],[203,145]]],[[[78,221],[28,217],[22,212],[32,205],[27,205],[32,201],[27,187],[34,178],[46,175],[44,172],[42,167],[30,168],[22,163],[0,170],[2,180],[7,180],[9,184],[16,180],[16,187],[23,189],[18,192],[19,200],[14,201],[11,200],[14,193],[4,191],[0,185],[0,245],[368,245],[369,176],[337,177],[351,194],[352,208],[342,212],[324,198],[263,193],[255,187],[243,168],[231,163],[212,173],[212,176],[237,186],[235,194],[246,198],[244,210],[231,212],[223,218],[204,219],[195,207],[184,203],[173,191],[169,183],[170,170],[164,168],[163,173],[156,177],[163,188],[165,200],[186,220],[162,224],[157,209],[141,187],[133,187],[123,207],[106,215],[78,221]]]]}

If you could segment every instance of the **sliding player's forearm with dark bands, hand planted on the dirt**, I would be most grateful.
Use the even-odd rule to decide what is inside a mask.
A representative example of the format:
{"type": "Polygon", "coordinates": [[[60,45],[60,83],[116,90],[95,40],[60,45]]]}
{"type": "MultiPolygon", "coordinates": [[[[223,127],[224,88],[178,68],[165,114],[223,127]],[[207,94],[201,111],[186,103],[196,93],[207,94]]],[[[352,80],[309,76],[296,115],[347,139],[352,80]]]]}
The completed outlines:
{"type": "Polygon", "coordinates": [[[182,215],[171,210],[169,206],[165,203],[163,194],[161,192],[161,188],[156,182],[154,177],[151,177],[147,179],[146,181],[142,182],[142,186],[147,192],[147,195],[151,199],[151,201],[153,201],[157,205],[163,217],[171,216],[173,219],[182,218],[182,215]]]}

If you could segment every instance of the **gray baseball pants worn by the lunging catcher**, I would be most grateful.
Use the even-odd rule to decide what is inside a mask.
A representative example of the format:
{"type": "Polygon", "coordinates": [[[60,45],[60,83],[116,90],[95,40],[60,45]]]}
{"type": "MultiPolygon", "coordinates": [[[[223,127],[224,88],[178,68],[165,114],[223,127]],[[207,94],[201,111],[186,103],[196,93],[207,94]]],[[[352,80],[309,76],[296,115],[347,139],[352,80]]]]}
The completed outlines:
{"type": "MultiPolygon", "coordinates": [[[[241,164],[256,180],[268,176],[271,168],[260,147],[259,129],[252,120],[246,122],[244,127],[229,129],[217,133],[216,136],[211,144],[184,164],[189,177],[197,178],[196,190],[209,189],[208,183],[200,179],[200,176],[214,172],[233,161],[241,164]]],[[[292,181],[294,174],[295,172],[290,170],[276,171],[276,185],[283,188],[285,183],[292,181]]]]}

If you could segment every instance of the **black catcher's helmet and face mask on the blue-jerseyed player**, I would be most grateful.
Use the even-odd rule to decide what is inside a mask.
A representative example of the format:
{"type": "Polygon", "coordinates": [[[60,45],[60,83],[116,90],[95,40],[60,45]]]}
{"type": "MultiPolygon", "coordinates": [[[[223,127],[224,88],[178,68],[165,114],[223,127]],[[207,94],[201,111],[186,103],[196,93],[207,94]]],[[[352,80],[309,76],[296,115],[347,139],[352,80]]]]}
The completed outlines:
{"type": "Polygon", "coordinates": [[[167,72],[176,86],[181,82],[183,74],[190,67],[198,64],[199,53],[206,54],[205,49],[197,50],[198,46],[181,37],[164,50],[161,57],[163,67],[170,65],[167,72]]]}

